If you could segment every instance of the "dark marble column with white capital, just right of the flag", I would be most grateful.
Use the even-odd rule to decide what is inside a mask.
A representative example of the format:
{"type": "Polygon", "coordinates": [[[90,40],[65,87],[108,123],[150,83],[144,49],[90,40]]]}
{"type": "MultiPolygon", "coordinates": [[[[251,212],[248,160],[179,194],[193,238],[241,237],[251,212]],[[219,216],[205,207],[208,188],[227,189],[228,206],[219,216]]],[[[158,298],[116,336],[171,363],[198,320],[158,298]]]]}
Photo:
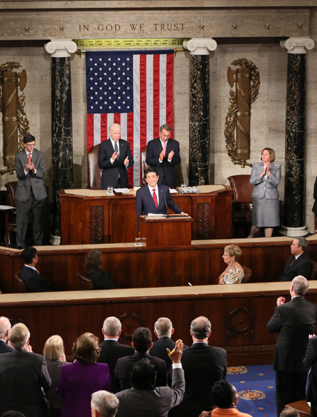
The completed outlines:
{"type": "Polygon", "coordinates": [[[209,51],[217,42],[196,38],[184,42],[191,54],[189,106],[189,186],[209,184],[209,51]]]}

